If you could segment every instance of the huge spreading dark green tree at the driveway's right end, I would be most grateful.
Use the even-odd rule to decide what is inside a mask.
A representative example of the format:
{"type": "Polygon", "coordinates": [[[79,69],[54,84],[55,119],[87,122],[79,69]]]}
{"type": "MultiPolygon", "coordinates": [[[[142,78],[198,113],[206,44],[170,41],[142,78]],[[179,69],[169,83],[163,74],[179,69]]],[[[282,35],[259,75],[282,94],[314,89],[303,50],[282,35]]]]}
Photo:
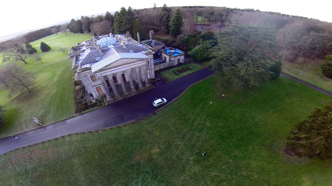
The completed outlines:
{"type": "Polygon", "coordinates": [[[209,52],[221,84],[240,89],[279,76],[281,63],[265,55],[277,47],[273,28],[233,25],[217,36],[218,45],[209,52]]]}

